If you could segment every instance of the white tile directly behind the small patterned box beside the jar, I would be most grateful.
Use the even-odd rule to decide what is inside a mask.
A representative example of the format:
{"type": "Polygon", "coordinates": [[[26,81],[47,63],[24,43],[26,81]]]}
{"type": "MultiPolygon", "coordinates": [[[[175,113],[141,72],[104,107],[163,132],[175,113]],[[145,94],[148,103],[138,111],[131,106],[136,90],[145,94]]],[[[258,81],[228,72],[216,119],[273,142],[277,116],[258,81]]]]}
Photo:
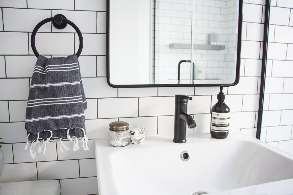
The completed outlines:
{"type": "Polygon", "coordinates": [[[134,117],[119,119],[119,121],[127,122],[130,129],[144,127],[146,136],[157,134],[157,120],[157,117],[134,117]]]}

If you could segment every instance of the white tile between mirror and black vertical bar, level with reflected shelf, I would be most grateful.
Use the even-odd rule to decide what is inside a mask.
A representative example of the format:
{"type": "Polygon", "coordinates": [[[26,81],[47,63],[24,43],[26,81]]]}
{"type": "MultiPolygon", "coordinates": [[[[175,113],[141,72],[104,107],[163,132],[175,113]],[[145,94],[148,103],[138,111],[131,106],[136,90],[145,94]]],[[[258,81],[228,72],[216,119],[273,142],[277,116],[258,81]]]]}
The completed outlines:
{"type": "Polygon", "coordinates": [[[242,41],[241,58],[259,59],[260,42],[242,41]]]}

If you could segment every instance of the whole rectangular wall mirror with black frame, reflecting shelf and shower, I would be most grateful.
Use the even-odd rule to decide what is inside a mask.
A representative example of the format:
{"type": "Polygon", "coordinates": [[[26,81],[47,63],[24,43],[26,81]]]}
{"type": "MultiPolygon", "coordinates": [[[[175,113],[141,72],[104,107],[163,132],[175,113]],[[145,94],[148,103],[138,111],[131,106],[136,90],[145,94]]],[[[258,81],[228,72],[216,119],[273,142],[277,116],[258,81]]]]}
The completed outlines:
{"type": "Polygon", "coordinates": [[[111,87],[236,85],[243,0],[108,0],[111,87]]]}

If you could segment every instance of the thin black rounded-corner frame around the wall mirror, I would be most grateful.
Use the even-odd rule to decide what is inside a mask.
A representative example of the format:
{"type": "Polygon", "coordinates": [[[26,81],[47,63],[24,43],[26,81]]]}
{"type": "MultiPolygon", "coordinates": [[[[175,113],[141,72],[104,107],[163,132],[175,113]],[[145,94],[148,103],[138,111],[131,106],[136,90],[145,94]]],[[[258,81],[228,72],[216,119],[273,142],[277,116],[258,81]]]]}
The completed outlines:
{"type": "Polygon", "coordinates": [[[133,84],[133,85],[115,85],[110,81],[110,64],[109,64],[109,16],[110,0],[107,0],[107,25],[106,25],[106,72],[107,82],[113,88],[144,88],[144,87],[207,87],[207,86],[234,86],[239,83],[240,79],[240,61],[241,61],[241,40],[242,40],[242,16],[243,0],[239,0],[239,18],[238,18],[238,40],[237,40],[237,57],[236,57],[236,78],[234,83],[230,84],[133,84]]]}

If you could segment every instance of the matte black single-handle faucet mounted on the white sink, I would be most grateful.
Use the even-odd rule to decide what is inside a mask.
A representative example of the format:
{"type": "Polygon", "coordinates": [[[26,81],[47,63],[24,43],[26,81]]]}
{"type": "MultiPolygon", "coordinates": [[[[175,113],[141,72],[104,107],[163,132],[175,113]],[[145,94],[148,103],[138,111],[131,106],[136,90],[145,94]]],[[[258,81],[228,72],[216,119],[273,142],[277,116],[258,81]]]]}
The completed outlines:
{"type": "Polygon", "coordinates": [[[188,95],[175,95],[174,139],[175,143],[186,142],[186,123],[190,129],[196,127],[195,120],[187,112],[188,95]]]}

